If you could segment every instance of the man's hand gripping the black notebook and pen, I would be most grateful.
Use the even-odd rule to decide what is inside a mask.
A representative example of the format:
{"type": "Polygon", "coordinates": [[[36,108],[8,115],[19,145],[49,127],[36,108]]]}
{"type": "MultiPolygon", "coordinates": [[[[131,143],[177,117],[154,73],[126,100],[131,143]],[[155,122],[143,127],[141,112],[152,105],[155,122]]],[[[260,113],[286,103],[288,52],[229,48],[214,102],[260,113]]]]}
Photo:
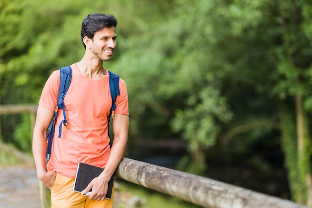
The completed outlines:
{"type": "Polygon", "coordinates": [[[103,176],[94,178],[85,190],[81,194],[86,194],[92,189],[91,195],[89,196],[90,200],[104,201],[106,193],[108,190],[108,182],[110,179],[106,179],[103,176]]]}

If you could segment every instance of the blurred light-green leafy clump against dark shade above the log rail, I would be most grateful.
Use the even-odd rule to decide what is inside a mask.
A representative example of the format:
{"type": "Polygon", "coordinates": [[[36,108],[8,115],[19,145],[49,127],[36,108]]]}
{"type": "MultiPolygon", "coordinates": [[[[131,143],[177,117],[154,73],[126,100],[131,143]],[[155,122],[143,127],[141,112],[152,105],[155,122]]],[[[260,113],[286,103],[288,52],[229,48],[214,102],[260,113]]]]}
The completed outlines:
{"type": "Polygon", "coordinates": [[[183,136],[189,140],[191,152],[201,148],[208,148],[215,144],[215,139],[220,133],[215,119],[227,122],[231,119],[231,113],[226,107],[226,100],[219,98],[218,91],[207,87],[202,89],[199,98],[190,95],[187,100],[189,108],[176,111],[176,117],[172,121],[173,129],[183,130],[183,136]],[[197,101],[197,99],[199,101],[197,101]]]}

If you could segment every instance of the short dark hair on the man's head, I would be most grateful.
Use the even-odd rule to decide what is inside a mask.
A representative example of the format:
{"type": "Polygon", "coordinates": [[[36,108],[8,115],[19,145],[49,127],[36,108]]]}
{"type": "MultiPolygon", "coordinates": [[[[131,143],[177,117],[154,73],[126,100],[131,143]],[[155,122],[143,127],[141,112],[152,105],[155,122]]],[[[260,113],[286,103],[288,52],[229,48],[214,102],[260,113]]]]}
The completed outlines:
{"type": "Polygon", "coordinates": [[[115,27],[117,26],[117,19],[110,14],[104,13],[90,13],[81,24],[81,40],[83,46],[86,48],[83,38],[85,36],[93,39],[94,33],[100,31],[105,27],[115,27]]]}

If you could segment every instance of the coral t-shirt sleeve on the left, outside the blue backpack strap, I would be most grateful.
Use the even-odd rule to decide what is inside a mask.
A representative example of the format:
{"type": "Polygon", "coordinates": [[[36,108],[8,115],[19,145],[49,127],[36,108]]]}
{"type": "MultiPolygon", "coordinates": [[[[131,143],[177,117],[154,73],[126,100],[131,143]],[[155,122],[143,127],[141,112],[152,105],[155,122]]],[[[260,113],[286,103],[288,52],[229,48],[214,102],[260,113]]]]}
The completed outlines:
{"type": "Polygon", "coordinates": [[[46,81],[41,97],[39,99],[39,105],[48,110],[54,111],[57,104],[57,94],[60,84],[60,72],[59,70],[53,71],[48,80],[46,81]]]}

